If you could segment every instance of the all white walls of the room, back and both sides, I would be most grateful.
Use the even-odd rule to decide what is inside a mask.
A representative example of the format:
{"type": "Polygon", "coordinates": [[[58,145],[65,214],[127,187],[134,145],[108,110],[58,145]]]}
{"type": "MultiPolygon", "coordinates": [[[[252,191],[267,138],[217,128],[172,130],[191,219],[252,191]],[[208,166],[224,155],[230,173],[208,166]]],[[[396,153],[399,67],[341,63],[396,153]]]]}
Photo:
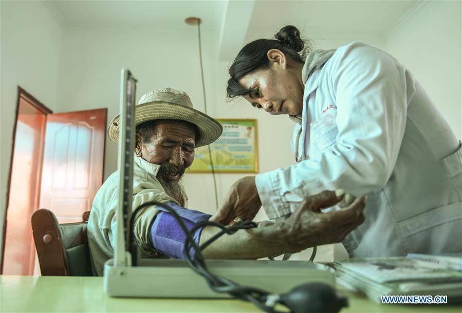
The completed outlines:
{"type": "MultiPolygon", "coordinates": [[[[170,86],[186,91],[195,107],[204,111],[195,27],[185,25],[180,30],[161,31],[70,28],[63,34],[41,2],[0,3],[2,221],[17,84],[54,112],[107,107],[109,122],[119,110],[120,69],[127,67],[139,80],[137,99],[152,89],[170,86]]],[[[360,40],[391,52],[414,72],[456,134],[460,134],[460,2],[440,3],[430,3],[408,16],[386,38],[361,33],[324,33],[309,27],[304,28],[304,34],[312,38],[315,48],[335,48],[360,40]],[[441,77],[448,79],[443,81],[441,77]]],[[[273,33],[249,33],[246,43],[270,38],[273,33]]],[[[202,39],[209,115],[258,120],[261,173],[294,163],[289,145],[292,122],[258,111],[242,99],[227,102],[231,60],[217,61],[215,34],[205,32],[202,39]]],[[[116,170],[116,149],[114,143],[106,141],[105,177],[116,170]]],[[[216,174],[219,201],[242,176],[216,174]]],[[[184,184],[190,208],[214,212],[211,174],[188,173],[184,184]]],[[[261,210],[257,219],[265,218],[261,210]]]]}

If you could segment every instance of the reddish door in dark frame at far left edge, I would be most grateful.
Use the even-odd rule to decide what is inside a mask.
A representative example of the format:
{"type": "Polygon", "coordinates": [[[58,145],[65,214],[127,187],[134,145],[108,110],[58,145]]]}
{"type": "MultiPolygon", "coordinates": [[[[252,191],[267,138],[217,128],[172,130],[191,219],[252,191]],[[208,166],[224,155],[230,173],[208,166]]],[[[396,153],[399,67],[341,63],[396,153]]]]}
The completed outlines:
{"type": "Polygon", "coordinates": [[[2,274],[31,275],[35,246],[30,216],[39,208],[43,139],[51,111],[19,88],[2,257],[2,274]]]}

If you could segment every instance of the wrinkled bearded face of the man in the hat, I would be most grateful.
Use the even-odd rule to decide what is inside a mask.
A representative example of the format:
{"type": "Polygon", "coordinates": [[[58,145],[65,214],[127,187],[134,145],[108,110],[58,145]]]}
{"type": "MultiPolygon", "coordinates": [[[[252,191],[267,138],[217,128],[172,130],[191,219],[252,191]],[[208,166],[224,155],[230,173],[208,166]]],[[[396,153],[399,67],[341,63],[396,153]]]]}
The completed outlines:
{"type": "Polygon", "coordinates": [[[171,197],[181,206],[187,197],[180,185],[184,171],[194,160],[196,130],[188,123],[159,120],[151,139],[136,141],[136,155],[150,163],[159,164],[157,179],[171,197]]]}

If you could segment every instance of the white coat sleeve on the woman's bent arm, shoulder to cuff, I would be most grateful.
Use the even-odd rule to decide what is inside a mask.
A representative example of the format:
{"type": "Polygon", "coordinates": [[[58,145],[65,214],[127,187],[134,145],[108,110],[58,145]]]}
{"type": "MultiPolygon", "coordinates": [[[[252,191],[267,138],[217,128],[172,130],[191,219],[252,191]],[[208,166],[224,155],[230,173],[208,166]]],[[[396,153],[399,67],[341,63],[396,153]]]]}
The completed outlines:
{"type": "Polygon", "coordinates": [[[293,212],[303,198],[323,190],[367,194],[385,186],[393,172],[414,90],[412,78],[379,49],[362,43],[341,49],[324,65],[329,66],[328,84],[337,105],[336,142],[317,160],[256,176],[269,218],[293,212]]]}

